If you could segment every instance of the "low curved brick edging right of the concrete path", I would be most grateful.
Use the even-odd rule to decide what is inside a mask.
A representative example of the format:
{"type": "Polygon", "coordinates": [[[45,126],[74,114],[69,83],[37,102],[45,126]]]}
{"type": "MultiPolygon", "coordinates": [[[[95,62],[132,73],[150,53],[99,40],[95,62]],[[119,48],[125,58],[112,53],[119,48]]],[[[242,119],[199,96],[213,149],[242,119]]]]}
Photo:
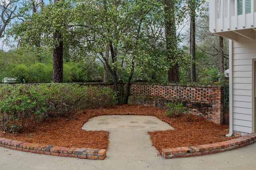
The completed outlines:
{"type": "Polygon", "coordinates": [[[256,133],[246,134],[236,139],[231,139],[213,144],[203,144],[190,147],[162,149],[162,156],[166,159],[199,156],[234,150],[256,142],[256,133]]]}

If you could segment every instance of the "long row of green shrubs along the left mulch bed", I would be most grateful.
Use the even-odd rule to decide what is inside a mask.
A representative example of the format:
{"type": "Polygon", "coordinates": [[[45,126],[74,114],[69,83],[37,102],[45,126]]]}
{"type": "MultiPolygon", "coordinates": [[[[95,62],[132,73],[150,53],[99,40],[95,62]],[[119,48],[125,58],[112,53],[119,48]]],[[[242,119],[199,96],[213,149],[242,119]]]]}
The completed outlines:
{"type": "Polygon", "coordinates": [[[87,100],[92,101],[92,107],[106,107],[114,104],[115,93],[108,87],[76,84],[4,84],[0,86],[0,129],[20,131],[27,121],[60,117],[87,100]]]}

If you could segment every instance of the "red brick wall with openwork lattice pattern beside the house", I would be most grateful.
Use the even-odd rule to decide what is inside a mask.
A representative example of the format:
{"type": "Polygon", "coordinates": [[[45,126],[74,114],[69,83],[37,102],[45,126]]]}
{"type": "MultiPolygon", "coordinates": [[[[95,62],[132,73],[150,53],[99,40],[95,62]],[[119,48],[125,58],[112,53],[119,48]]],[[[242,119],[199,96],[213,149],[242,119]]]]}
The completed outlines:
{"type": "Polygon", "coordinates": [[[132,83],[129,104],[165,109],[165,104],[182,102],[190,114],[214,123],[223,122],[223,86],[132,83]]]}

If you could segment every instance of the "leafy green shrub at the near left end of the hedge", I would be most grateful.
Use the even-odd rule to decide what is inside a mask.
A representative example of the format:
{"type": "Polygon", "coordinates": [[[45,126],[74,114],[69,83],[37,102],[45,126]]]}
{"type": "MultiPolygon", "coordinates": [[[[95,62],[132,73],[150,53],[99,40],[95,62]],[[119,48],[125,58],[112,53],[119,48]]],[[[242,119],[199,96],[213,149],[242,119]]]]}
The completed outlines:
{"type": "Polygon", "coordinates": [[[34,119],[44,113],[45,109],[40,103],[44,96],[36,93],[34,86],[2,85],[0,87],[0,128],[2,130],[19,131],[28,119],[34,119]]]}

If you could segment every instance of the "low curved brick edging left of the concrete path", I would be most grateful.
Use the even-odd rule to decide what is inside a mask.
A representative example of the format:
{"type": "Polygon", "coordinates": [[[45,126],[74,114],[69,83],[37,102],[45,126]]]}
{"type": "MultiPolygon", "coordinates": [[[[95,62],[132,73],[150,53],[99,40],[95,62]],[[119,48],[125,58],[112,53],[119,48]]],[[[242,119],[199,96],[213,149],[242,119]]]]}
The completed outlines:
{"type": "Polygon", "coordinates": [[[61,146],[21,142],[7,138],[0,138],[0,146],[14,150],[21,150],[24,152],[32,152],[53,156],[66,156],[94,160],[104,160],[104,158],[106,158],[106,149],[67,148],[61,146]]]}

